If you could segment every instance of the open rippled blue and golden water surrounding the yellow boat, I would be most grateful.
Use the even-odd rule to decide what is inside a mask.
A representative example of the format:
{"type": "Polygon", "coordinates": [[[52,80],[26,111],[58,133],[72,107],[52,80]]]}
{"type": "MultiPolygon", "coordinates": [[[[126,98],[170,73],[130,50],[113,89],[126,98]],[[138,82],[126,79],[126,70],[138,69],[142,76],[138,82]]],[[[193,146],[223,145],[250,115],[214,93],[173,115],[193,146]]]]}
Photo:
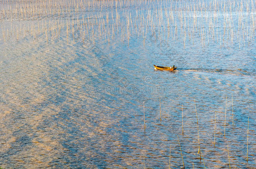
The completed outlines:
{"type": "Polygon", "coordinates": [[[1,167],[180,168],[181,149],[185,168],[228,168],[228,153],[232,168],[256,168],[255,37],[184,48],[41,36],[0,41],[1,167]]]}

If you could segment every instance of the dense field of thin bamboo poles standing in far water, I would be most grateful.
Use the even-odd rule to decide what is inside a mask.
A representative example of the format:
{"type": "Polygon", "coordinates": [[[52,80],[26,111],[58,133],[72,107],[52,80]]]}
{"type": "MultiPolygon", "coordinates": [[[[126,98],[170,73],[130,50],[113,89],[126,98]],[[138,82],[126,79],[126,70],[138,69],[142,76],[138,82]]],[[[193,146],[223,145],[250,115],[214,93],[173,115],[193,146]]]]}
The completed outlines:
{"type": "Polygon", "coordinates": [[[253,1],[197,3],[153,0],[39,0],[0,3],[0,40],[39,37],[47,41],[63,35],[74,40],[114,40],[129,43],[152,35],[157,40],[179,41],[184,47],[207,43],[251,43],[255,38],[253,1]],[[138,5],[136,5],[138,4],[138,5]],[[235,4],[235,5],[234,5],[235,4]],[[125,8],[129,7],[129,8],[125,8]],[[25,23],[29,24],[24,24],[25,23]],[[118,39],[120,40],[120,39],[118,39]]]}

